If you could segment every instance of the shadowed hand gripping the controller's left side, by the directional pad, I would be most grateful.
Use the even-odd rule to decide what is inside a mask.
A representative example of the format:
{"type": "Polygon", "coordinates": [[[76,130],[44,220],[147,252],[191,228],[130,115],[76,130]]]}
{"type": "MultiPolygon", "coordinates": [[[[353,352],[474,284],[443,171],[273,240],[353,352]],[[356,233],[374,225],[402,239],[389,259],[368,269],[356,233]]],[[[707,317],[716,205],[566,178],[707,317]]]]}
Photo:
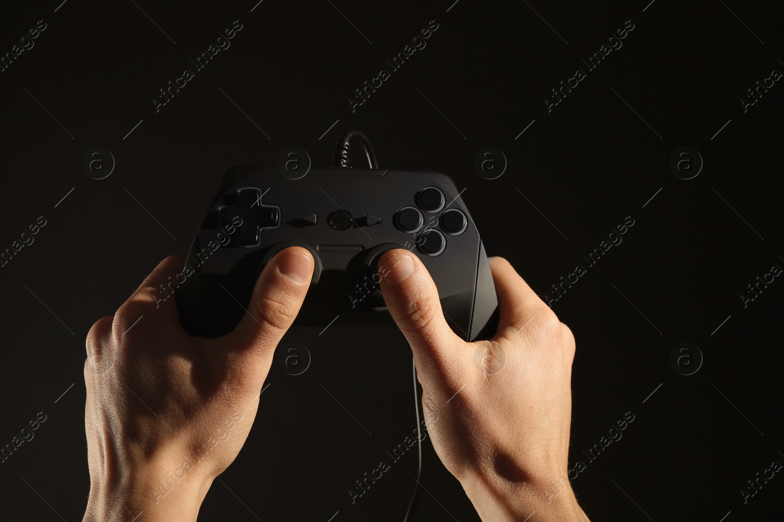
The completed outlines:
{"type": "Polygon", "coordinates": [[[84,520],[196,520],[210,484],[248,437],[278,345],[299,312],[313,257],[281,251],[256,281],[234,332],[189,337],[158,286],[167,257],[86,340],[90,495],[84,520]]]}

